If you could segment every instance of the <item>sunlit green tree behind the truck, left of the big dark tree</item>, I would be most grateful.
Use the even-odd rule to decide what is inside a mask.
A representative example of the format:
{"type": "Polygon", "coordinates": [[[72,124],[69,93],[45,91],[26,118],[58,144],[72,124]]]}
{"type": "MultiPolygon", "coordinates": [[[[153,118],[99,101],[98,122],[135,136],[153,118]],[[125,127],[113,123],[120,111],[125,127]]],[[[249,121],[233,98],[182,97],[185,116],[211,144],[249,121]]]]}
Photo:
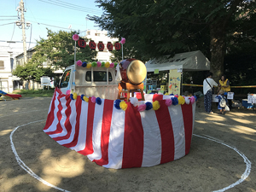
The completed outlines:
{"type": "MultiPolygon", "coordinates": [[[[41,38],[36,47],[38,60],[49,61],[55,68],[65,68],[74,64],[73,34],[79,32],[52,32],[48,29],[48,38],[41,38]]],[[[85,39],[88,41],[88,39],[85,39]]],[[[76,59],[81,61],[94,61],[97,52],[87,45],[84,49],[76,44],[76,59]]],[[[42,64],[42,63],[41,63],[42,64]]]]}

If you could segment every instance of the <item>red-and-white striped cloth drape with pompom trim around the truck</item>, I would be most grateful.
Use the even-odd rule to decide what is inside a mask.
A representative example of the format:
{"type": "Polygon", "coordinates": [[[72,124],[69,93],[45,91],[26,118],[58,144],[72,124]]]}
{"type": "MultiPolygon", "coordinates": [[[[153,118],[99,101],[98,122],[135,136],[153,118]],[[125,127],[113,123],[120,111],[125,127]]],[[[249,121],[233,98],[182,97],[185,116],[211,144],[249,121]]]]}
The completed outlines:
{"type": "Polygon", "coordinates": [[[44,132],[99,166],[156,166],[189,154],[195,99],[145,94],[146,101],[120,102],[56,88],[44,132]]]}

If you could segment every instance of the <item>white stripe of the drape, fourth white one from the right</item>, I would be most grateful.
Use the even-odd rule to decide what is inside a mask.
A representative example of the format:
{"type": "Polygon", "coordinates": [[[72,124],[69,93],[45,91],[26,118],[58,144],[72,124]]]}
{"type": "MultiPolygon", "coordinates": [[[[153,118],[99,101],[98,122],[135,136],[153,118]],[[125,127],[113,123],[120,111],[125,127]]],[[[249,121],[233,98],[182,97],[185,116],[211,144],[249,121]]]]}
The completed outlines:
{"type": "Polygon", "coordinates": [[[102,104],[95,105],[95,113],[93,119],[93,130],[92,130],[92,147],[93,153],[88,154],[89,160],[100,160],[102,158],[102,117],[103,117],[104,99],[102,99],[102,104]]]}

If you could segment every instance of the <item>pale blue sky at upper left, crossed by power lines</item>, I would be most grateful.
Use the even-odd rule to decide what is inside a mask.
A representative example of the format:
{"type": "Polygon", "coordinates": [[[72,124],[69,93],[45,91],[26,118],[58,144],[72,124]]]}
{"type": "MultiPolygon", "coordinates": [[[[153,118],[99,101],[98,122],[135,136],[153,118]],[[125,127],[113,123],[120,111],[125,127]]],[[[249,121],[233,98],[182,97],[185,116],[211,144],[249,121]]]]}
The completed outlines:
{"type": "MultiPolygon", "coordinates": [[[[32,25],[26,31],[26,49],[32,48],[36,40],[47,38],[46,27],[54,32],[77,31],[81,35],[86,29],[97,29],[96,23],[86,20],[87,15],[102,15],[102,9],[94,0],[23,0],[26,12],[25,21],[32,25]],[[70,29],[69,29],[70,28],[70,29]]],[[[0,0],[0,46],[14,52],[23,49],[22,29],[15,25],[18,19],[20,0],[0,0]],[[6,41],[15,41],[7,44],[6,41]],[[4,45],[3,45],[4,44],[4,45]]],[[[22,51],[23,52],[23,51],[22,51]]]]}

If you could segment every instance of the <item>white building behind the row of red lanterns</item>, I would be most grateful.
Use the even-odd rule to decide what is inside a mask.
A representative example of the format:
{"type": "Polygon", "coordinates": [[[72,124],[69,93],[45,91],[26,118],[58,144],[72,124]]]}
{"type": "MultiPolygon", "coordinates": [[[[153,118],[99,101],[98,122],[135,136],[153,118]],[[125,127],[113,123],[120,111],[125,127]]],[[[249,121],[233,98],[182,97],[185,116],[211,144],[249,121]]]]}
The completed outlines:
{"type": "Polygon", "coordinates": [[[108,42],[111,42],[113,44],[119,41],[119,38],[108,37],[108,31],[91,30],[91,29],[87,30],[85,38],[89,38],[93,40],[96,44],[102,41],[102,43],[104,44],[104,50],[98,51],[98,54],[96,56],[96,59],[101,62],[110,61],[110,56],[112,55],[112,53],[107,48],[108,42]]]}

